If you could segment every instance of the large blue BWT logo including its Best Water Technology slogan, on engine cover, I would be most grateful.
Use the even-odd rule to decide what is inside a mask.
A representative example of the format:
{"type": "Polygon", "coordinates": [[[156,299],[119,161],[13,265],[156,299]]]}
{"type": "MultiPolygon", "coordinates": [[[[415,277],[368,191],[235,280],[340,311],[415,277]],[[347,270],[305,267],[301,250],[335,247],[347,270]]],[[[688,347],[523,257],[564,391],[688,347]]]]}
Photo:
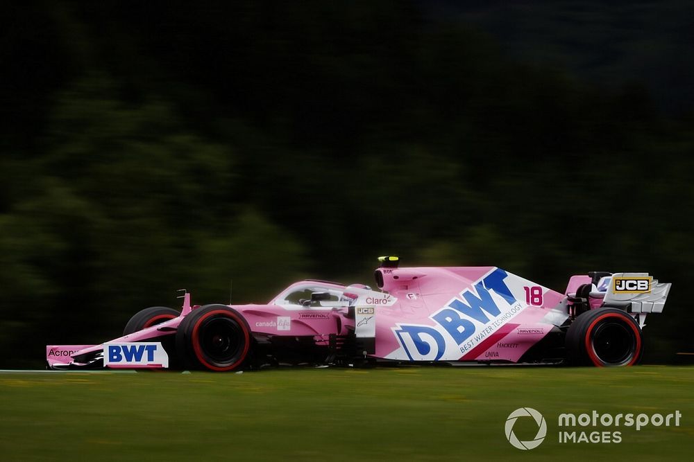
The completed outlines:
{"type": "Polygon", "coordinates": [[[459,359],[461,353],[479,343],[490,330],[493,332],[502,326],[502,320],[519,312],[523,307],[505,283],[507,276],[503,269],[494,269],[475,283],[474,291],[465,290],[432,314],[430,319],[435,326],[398,324],[393,332],[409,360],[437,361],[447,350],[451,351],[450,357],[444,359],[459,359]],[[509,306],[500,308],[492,292],[509,306]]]}

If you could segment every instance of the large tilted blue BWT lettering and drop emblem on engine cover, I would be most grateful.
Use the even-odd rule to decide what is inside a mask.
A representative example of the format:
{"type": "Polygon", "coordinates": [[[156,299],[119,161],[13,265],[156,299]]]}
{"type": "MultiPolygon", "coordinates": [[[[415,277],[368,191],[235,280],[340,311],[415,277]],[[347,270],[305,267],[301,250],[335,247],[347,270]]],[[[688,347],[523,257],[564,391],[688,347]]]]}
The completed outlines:
{"type": "MultiPolygon", "coordinates": [[[[473,321],[485,326],[491,321],[489,317],[496,319],[501,314],[490,291],[501,296],[509,305],[517,302],[504,282],[507,276],[507,272],[503,269],[494,269],[482,281],[475,284],[476,293],[471,290],[462,292],[460,299],[453,299],[448,305],[432,314],[430,319],[436,321],[450,339],[455,341],[455,344],[458,346],[466,344],[477,330],[473,321]]],[[[398,327],[394,332],[410,361],[437,361],[446,351],[446,339],[437,327],[406,324],[400,324],[398,327]]],[[[461,351],[466,349],[461,347],[461,351]]]]}

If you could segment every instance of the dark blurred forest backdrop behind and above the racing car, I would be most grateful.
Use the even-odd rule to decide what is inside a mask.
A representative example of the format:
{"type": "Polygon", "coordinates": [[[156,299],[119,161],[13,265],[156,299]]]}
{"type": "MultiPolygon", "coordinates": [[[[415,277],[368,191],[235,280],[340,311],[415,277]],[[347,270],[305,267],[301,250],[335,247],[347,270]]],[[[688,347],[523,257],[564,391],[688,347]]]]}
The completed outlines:
{"type": "Polygon", "coordinates": [[[2,8],[4,366],[383,254],[651,272],[645,361],[691,362],[691,3],[2,8]]]}

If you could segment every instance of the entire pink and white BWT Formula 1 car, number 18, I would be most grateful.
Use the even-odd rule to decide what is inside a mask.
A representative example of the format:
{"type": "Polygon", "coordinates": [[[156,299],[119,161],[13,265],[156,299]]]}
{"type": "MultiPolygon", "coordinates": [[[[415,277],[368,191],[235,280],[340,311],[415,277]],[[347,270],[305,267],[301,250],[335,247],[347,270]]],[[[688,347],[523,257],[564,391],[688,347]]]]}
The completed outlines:
{"type": "Polygon", "coordinates": [[[267,364],[470,362],[630,366],[669,283],[647,273],[573,276],[561,294],[497,267],[399,268],[382,257],[380,290],[300,281],[265,305],[146,308],[123,337],[47,346],[51,368],[196,368],[267,364]]]}

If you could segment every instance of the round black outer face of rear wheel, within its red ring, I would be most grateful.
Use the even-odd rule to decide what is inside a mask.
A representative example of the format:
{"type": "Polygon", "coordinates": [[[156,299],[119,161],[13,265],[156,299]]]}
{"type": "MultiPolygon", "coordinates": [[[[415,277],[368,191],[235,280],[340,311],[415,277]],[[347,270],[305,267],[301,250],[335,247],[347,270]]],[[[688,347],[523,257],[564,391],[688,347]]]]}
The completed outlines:
{"type": "Polygon", "coordinates": [[[591,332],[593,353],[603,364],[620,366],[632,362],[638,353],[637,345],[632,326],[618,319],[603,321],[591,332]]]}

